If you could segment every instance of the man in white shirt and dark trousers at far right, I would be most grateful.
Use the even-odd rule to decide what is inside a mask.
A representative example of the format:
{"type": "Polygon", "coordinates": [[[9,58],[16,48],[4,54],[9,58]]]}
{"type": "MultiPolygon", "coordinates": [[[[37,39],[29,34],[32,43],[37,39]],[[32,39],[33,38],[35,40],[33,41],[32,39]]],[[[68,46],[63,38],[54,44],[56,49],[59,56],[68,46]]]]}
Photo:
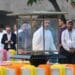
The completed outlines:
{"type": "Polygon", "coordinates": [[[75,29],[72,20],[67,21],[67,29],[62,32],[61,43],[63,46],[63,63],[75,64],[75,29]]]}

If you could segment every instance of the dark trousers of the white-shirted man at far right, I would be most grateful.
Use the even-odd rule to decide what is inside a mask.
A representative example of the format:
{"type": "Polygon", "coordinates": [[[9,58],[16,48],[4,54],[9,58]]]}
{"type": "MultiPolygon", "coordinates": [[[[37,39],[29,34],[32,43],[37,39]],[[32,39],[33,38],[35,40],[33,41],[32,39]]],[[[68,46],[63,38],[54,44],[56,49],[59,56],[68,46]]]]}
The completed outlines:
{"type": "Polygon", "coordinates": [[[61,64],[75,64],[75,52],[70,53],[61,47],[59,51],[58,62],[61,64]]]}

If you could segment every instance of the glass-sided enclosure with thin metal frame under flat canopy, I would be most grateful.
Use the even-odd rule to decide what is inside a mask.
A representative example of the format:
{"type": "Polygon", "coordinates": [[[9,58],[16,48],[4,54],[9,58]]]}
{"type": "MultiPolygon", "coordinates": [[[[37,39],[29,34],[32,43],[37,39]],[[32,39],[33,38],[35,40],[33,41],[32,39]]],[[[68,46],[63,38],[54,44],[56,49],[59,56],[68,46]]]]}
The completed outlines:
{"type": "Polygon", "coordinates": [[[21,16],[17,31],[18,54],[52,52],[58,50],[57,18],[21,16]]]}

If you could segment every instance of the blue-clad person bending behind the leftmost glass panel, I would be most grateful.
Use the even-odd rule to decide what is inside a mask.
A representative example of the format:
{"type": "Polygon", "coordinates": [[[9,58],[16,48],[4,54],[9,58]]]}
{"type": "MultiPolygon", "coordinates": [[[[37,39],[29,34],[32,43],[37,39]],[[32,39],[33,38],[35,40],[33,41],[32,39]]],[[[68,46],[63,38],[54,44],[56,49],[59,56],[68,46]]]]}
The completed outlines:
{"type": "Polygon", "coordinates": [[[26,50],[31,47],[31,26],[28,23],[24,23],[18,32],[18,47],[26,50]]]}

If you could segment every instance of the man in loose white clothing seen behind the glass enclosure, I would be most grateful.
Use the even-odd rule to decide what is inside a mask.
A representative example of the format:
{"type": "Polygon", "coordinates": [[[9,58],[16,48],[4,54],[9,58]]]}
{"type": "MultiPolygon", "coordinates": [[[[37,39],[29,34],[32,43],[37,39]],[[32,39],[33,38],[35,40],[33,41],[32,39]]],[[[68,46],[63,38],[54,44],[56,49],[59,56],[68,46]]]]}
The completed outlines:
{"type": "Polygon", "coordinates": [[[49,51],[56,50],[54,40],[51,31],[48,29],[49,20],[44,20],[44,26],[42,25],[34,34],[32,40],[32,50],[38,51],[49,51]]]}

